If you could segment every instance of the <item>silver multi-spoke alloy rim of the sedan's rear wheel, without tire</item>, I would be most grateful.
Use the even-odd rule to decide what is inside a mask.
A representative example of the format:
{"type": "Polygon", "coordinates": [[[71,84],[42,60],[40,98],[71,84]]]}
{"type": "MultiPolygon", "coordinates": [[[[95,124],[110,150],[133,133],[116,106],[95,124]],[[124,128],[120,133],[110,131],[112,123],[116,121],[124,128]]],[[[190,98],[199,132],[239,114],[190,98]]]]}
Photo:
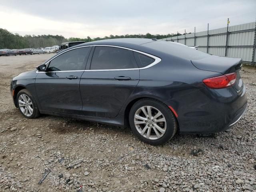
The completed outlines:
{"type": "Polygon", "coordinates": [[[134,125],[142,136],[150,140],[159,139],[166,132],[164,115],[152,106],[142,106],[135,112],[134,125]]]}

